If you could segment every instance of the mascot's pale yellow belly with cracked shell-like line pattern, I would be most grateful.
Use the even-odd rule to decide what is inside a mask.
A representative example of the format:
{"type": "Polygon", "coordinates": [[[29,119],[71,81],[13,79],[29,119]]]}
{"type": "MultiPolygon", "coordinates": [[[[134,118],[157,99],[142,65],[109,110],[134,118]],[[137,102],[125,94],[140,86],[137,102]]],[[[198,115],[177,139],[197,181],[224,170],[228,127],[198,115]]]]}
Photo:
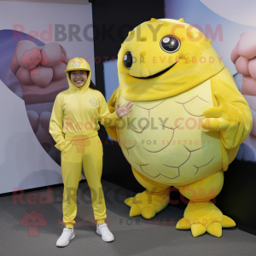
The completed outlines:
{"type": "MultiPolygon", "coordinates": [[[[120,105],[127,101],[119,97],[120,105]]],[[[203,111],[213,107],[210,80],[181,95],[132,102],[118,125],[126,160],[145,177],[169,186],[194,183],[222,169],[219,134],[202,131],[203,111]]]]}

